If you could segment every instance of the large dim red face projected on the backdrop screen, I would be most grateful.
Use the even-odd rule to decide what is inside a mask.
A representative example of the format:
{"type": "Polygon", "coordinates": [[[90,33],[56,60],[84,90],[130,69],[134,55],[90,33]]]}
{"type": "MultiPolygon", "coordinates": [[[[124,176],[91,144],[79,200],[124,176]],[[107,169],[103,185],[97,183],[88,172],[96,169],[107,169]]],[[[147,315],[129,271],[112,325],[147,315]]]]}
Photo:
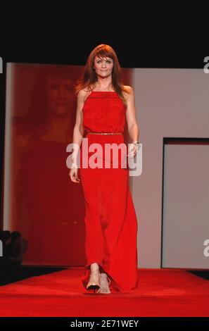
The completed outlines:
{"type": "Polygon", "coordinates": [[[49,78],[46,83],[48,106],[53,113],[69,113],[74,100],[74,86],[68,79],[49,78]]]}

